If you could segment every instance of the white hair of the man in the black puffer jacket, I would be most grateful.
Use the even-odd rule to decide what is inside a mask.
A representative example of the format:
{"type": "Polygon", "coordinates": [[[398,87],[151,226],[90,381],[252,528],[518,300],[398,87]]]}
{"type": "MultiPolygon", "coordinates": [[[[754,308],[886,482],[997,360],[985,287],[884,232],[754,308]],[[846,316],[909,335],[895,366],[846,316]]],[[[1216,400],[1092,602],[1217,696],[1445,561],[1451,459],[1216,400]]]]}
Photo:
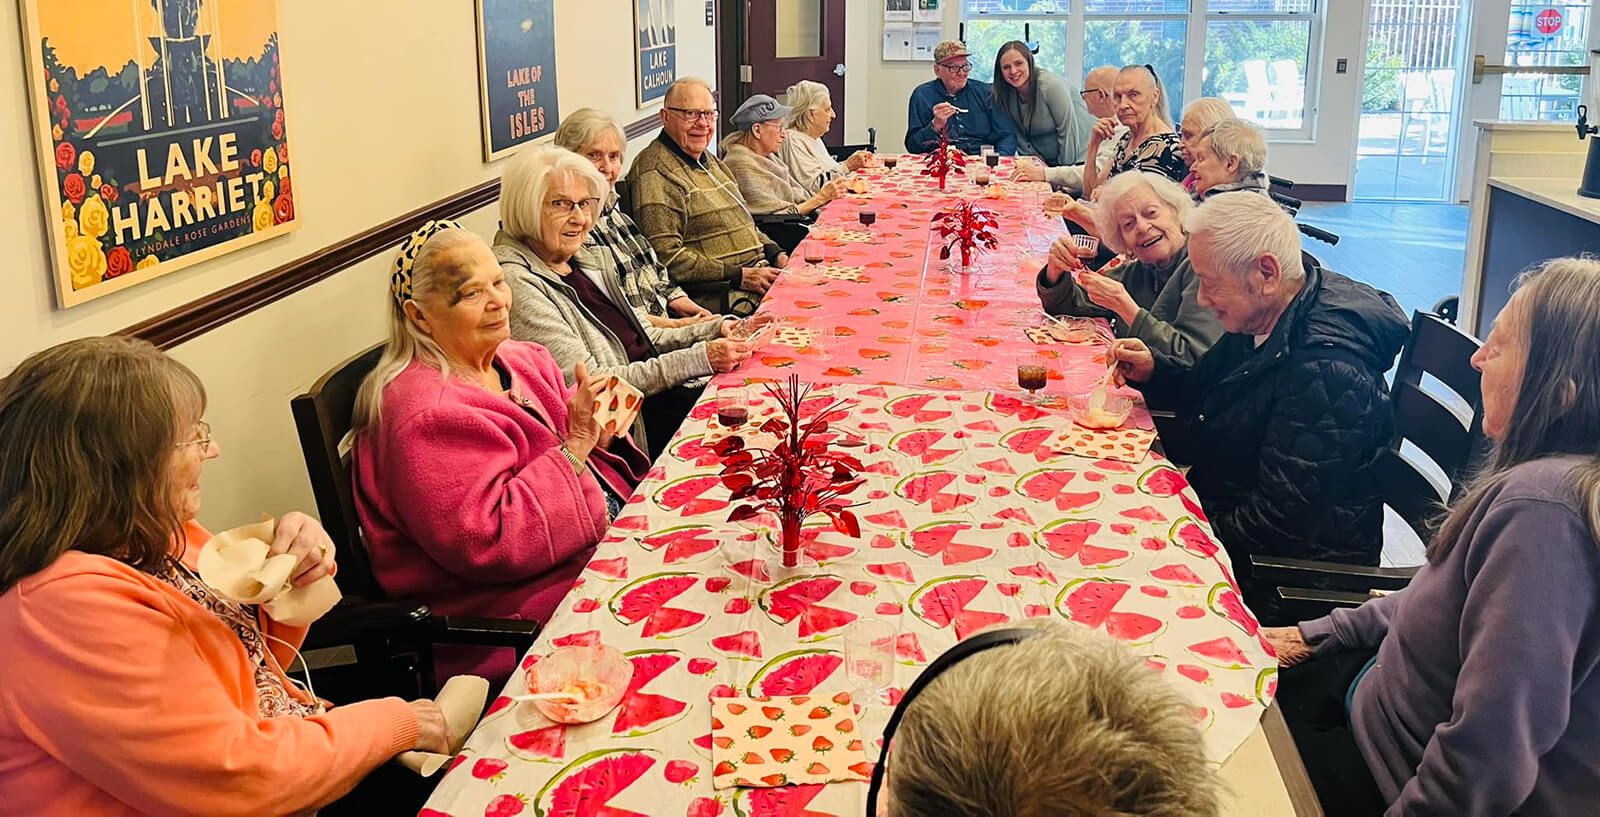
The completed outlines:
{"type": "Polygon", "coordinates": [[[1285,281],[1306,277],[1301,262],[1299,227],[1283,208],[1254,192],[1206,197],[1189,216],[1184,229],[1190,241],[1203,241],[1211,259],[1234,275],[1256,269],[1262,256],[1278,261],[1285,281]]]}

